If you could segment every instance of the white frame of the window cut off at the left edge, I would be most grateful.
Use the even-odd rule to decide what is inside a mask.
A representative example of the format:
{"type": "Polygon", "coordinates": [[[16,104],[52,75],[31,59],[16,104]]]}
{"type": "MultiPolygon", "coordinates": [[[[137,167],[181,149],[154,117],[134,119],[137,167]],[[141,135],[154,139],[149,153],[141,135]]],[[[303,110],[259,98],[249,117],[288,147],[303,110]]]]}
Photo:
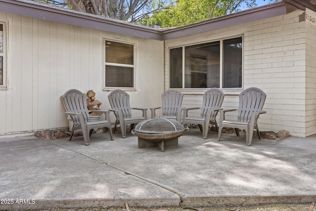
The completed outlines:
{"type": "Polygon", "coordinates": [[[3,53],[2,56],[2,84],[0,84],[0,89],[7,89],[7,46],[8,46],[8,21],[0,19],[0,24],[2,24],[2,39],[3,39],[3,53]]]}

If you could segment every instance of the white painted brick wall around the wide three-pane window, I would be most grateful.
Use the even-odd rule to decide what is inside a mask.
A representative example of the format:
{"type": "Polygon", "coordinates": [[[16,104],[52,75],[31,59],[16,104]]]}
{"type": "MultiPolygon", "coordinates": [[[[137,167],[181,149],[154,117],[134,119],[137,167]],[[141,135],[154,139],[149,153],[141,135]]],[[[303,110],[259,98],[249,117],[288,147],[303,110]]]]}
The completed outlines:
{"type": "MultiPolygon", "coordinates": [[[[306,26],[304,17],[305,11],[296,10],[165,41],[165,89],[169,88],[170,48],[243,36],[243,88],[255,86],[267,94],[264,105],[267,114],[258,120],[260,130],[287,130],[290,135],[300,137],[316,133],[313,82],[316,59],[312,48],[316,34],[314,26],[306,26]]],[[[205,90],[182,89],[185,93],[183,106],[200,106],[205,90]]],[[[222,90],[226,94],[222,107],[237,108],[238,94],[243,89],[222,90]]],[[[234,115],[232,113],[227,119],[234,119],[234,115]]]]}

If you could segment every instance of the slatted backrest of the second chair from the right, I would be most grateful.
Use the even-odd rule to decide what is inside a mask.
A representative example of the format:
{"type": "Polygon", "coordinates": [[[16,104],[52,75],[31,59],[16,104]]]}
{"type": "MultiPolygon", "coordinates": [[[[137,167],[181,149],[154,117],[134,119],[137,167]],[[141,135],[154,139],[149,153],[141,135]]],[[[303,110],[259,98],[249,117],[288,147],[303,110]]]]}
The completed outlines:
{"type": "MultiPolygon", "coordinates": [[[[220,109],[224,101],[224,92],[219,88],[211,88],[204,92],[200,117],[205,118],[210,109],[220,109]]],[[[211,121],[214,121],[218,111],[211,113],[211,121]]]]}

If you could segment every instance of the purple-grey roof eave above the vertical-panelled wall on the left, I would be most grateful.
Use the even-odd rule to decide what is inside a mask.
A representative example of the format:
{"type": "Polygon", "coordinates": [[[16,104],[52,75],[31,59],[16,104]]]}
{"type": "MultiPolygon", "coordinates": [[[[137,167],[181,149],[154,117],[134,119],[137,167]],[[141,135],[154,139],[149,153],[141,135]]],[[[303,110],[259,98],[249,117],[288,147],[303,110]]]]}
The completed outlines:
{"type": "Polygon", "coordinates": [[[153,30],[150,27],[54,6],[44,6],[42,3],[30,3],[30,1],[23,0],[0,0],[0,11],[136,37],[161,40],[161,32],[153,30]]]}

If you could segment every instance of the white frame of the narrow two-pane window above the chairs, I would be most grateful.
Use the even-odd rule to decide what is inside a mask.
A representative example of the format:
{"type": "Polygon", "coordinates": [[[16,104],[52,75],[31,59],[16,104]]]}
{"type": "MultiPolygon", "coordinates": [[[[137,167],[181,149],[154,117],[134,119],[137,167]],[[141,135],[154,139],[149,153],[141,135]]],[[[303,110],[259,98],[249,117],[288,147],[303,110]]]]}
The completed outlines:
{"type": "Polygon", "coordinates": [[[135,42],[128,42],[128,41],[122,41],[122,40],[117,40],[117,39],[111,39],[107,37],[102,38],[102,69],[103,69],[103,74],[102,74],[102,90],[114,90],[114,89],[122,89],[122,90],[136,90],[136,43],[135,42]],[[106,42],[119,42],[123,44],[131,44],[133,45],[133,65],[130,64],[120,64],[120,63],[112,63],[112,62],[106,62],[106,42]],[[106,66],[111,65],[111,66],[117,66],[117,67],[131,67],[133,68],[133,87],[121,87],[121,86],[106,86],[106,66]]]}

